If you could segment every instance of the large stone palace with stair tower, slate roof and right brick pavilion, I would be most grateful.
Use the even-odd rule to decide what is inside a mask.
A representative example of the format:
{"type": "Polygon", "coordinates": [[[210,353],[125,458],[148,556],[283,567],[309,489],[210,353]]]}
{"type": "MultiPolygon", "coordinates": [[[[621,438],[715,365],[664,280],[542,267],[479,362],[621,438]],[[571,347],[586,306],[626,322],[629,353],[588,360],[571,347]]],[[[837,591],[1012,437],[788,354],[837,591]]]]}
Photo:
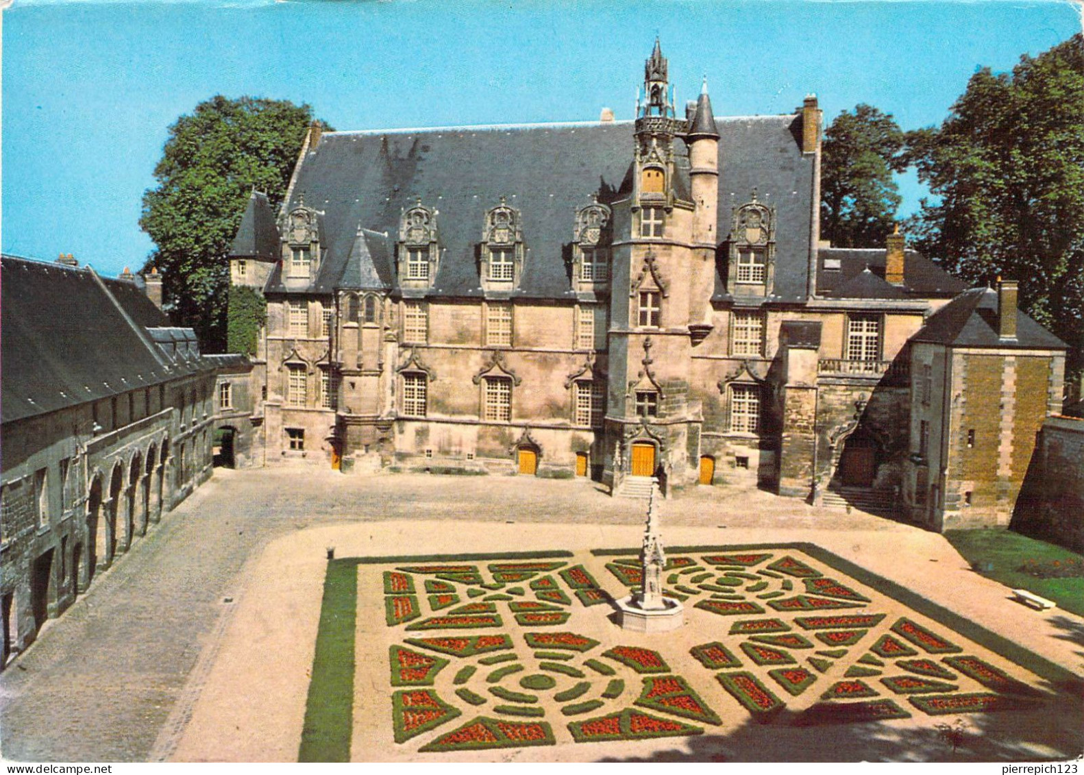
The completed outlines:
{"type": "Polygon", "coordinates": [[[900,234],[822,243],[815,96],[717,118],[706,83],[672,94],[656,41],[631,121],[313,125],[230,255],[267,321],[220,380],[247,380],[263,457],[1007,524],[1064,346],[900,234]]]}

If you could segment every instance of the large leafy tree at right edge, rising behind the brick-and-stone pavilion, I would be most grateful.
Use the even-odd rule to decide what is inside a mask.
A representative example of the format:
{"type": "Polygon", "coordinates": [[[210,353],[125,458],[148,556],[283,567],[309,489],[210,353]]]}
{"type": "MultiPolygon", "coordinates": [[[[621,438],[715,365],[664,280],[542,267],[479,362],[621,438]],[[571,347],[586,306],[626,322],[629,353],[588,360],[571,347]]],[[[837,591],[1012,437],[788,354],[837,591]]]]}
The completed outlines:
{"type": "Polygon", "coordinates": [[[972,282],[1019,280],[1022,307],[1084,367],[1084,37],[978,70],[907,143],[935,197],[908,223],[918,247],[972,282]]]}

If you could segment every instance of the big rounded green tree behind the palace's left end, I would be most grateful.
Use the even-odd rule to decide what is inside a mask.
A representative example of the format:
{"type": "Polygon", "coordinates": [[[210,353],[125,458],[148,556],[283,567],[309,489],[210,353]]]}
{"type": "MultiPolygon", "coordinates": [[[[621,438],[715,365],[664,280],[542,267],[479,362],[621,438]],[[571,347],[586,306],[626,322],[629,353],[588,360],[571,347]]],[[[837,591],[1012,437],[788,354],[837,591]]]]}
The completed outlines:
{"type": "Polygon", "coordinates": [[[156,245],[144,269],[163,273],[171,319],[208,352],[225,348],[225,256],[249,193],[282,201],[311,122],[307,104],[216,95],[169,128],[158,185],[143,194],[140,227],[156,245]]]}

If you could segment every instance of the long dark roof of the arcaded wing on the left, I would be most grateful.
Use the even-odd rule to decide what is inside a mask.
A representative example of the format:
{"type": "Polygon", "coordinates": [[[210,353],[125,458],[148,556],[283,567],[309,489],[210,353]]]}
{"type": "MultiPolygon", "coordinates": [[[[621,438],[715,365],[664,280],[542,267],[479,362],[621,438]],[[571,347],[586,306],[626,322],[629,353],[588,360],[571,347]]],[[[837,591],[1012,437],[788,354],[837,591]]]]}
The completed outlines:
{"type": "Polygon", "coordinates": [[[139,287],[76,268],[4,256],[0,419],[54,412],[210,367],[196,349],[156,346],[166,315],[139,287]],[[151,324],[152,327],[149,327],[151,324]]]}

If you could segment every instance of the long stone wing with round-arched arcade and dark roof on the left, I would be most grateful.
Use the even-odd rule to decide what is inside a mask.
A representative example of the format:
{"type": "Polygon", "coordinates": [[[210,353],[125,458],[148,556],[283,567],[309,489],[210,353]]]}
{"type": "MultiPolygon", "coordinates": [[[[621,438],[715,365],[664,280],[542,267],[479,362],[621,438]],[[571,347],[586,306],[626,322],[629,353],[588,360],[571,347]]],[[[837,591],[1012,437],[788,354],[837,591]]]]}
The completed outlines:
{"type": "Polygon", "coordinates": [[[0,669],[210,476],[230,360],[89,268],[4,257],[2,287],[0,669]],[[34,314],[61,305],[64,331],[34,314]]]}

